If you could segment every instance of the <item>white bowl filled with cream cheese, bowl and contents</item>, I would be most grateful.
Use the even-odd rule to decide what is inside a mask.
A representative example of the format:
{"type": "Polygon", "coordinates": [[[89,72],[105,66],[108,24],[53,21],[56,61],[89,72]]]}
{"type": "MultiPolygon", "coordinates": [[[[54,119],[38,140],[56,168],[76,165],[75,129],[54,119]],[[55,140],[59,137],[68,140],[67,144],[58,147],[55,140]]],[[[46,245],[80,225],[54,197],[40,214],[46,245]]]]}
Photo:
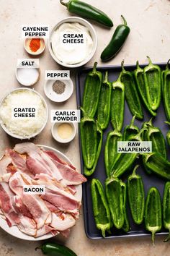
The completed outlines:
{"type": "Polygon", "coordinates": [[[53,59],[63,67],[81,67],[94,56],[97,34],[86,20],[68,17],[51,30],[48,48],[53,59]]]}

